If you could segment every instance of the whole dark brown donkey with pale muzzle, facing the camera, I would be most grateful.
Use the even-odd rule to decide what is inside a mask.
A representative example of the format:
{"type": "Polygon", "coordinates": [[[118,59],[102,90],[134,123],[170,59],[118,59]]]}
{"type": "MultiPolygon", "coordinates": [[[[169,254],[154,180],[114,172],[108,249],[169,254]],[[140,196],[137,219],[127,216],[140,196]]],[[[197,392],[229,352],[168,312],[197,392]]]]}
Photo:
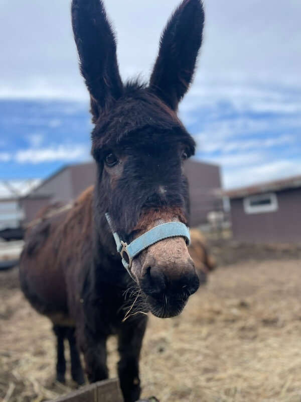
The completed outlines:
{"type": "Polygon", "coordinates": [[[28,231],[21,283],[33,307],[54,323],[60,379],[65,370],[62,339],[67,336],[76,367],[73,378],[83,382],[72,327],[89,381],[107,378],[106,339],[118,336],[118,373],[126,402],[140,393],[138,360],[146,316],[137,313],[150,311],[162,318],[180,314],[199,279],[181,236],[140,252],[132,261],[131,277],[105,214],[127,243],[163,223],[188,225],[183,163],[194,154],[195,143],[177,108],[192,81],[203,23],[201,1],[184,0],[163,32],[149,83],[122,83],[102,2],[72,3],[95,125],[96,183],[93,193],[83,193],[71,210],[45,217],[28,231]]]}

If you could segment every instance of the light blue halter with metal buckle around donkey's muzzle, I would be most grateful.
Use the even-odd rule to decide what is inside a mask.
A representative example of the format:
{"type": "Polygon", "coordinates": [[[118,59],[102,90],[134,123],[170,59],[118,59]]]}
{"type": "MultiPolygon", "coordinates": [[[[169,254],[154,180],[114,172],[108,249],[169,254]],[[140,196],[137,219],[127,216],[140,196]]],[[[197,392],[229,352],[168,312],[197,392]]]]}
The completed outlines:
{"type": "Polygon", "coordinates": [[[122,264],[131,277],[133,277],[130,271],[133,259],[139,253],[141,253],[141,251],[151,246],[152,244],[160,242],[160,240],[176,236],[184,237],[187,244],[190,244],[189,229],[182,222],[168,222],[155,226],[155,228],[150,229],[149,231],[143,233],[143,235],[137,237],[131,243],[127,244],[120,240],[118,233],[113,231],[112,222],[109,214],[105,214],[105,217],[113,233],[117,246],[117,251],[121,255],[122,264]]]}

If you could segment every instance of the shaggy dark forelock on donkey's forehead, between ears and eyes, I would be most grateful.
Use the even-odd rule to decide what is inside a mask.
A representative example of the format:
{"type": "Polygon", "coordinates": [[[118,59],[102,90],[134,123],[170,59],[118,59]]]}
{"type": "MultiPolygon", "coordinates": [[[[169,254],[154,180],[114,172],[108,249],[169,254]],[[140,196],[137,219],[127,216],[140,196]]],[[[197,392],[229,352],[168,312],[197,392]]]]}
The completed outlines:
{"type": "Polygon", "coordinates": [[[130,141],[130,137],[135,143],[145,143],[149,133],[150,142],[157,145],[164,142],[164,133],[170,133],[167,141],[182,141],[187,144],[190,154],[194,154],[195,142],[177,114],[146,85],[130,82],[125,85],[124,94],[115,102],[114,108],[102,113],[96,122],[92,132],[92,154],[103,147],[120,146],[123,141],[130,141]]]}

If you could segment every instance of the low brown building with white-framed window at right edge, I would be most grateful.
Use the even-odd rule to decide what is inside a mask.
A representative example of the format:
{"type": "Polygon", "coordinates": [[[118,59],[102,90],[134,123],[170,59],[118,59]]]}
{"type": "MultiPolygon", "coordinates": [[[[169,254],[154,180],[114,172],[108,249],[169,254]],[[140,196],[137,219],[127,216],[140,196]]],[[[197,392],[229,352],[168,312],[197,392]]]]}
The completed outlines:
{"type": "Polygon", "coordinates": [[[301,176],[226,191],[235,240],[301,242],[301,176]]]}

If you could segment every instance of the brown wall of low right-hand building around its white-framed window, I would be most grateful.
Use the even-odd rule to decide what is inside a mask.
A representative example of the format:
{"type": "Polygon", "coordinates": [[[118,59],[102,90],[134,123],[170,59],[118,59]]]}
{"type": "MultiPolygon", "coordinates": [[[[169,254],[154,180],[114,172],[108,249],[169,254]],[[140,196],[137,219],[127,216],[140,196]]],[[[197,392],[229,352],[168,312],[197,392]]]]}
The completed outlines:
{"type": "Polygon", "coordinates": [[[231,199],[234,239],[248,243],[301,242],[301,188],[276,192],[278,210],[246,214],[243,198],[231,199]]]}

